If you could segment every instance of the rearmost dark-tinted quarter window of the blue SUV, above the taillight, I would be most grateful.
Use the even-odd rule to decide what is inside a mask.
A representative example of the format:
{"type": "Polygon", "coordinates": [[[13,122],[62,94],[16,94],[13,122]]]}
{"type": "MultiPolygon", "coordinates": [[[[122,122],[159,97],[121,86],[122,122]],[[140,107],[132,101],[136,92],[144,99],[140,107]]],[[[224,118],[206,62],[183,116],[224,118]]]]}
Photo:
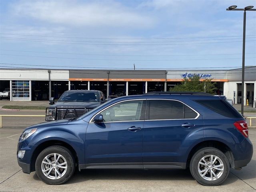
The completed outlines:
{"type": "Polygon", "coordinates": [[[241,118],[242,116],[225,100],[196,100],[201,105],[229,118],[241,118]]]}

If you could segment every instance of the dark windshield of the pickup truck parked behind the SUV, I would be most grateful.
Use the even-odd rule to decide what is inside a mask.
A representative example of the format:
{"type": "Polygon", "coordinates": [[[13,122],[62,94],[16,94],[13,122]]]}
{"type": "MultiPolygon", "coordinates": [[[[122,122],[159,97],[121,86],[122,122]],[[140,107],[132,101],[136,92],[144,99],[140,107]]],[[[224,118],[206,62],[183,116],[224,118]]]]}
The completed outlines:
{"type": "Polygon", "coordinates": [[[64,92],[58,102],[100,102],[97,93],[64,92]]]}

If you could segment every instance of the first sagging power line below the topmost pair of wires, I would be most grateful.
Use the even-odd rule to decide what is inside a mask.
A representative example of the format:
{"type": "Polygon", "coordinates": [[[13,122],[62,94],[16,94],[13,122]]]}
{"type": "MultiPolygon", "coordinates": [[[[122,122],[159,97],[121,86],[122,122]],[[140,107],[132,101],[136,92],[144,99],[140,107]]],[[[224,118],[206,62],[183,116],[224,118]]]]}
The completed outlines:
{"type": "MultiPolygon", "coordinates": [[[[84,54],[84,53],[67,53],[67,52],[43,52],[43,51],[24,51],[24,50],[10,50],[0,49],[1,51],[17,51],[17,52],[32,52],[32,53],[50,53],[50,54],[72,54],[72,55],[95,55],[95,56],[206,56],[206,55],[242,55],[242,53],[226,53],[226,54],[193,54],[193,55],[114,55],[114,54],[84,54]]],[[[246,53],[256,54],[256,53],[246,53]]]]}

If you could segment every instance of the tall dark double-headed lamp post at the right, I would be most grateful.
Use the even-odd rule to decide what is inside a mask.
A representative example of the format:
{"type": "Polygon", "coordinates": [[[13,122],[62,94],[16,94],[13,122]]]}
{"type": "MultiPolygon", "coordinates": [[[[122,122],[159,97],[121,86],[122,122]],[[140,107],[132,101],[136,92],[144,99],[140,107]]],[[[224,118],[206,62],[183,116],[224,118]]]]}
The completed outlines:
{"type": "Polygon", "coordinates": [[[242,56],[242,99],[241,99],[241,114],[244,115],[244,58],[245,58],[245,25],[246,11],[256,11],[253,6],[246,6],[244,9],[238,9],[236,5],[232,5],[226,9],[227,11],[244,11],[244,30],[243,30],[243,56],[242,56]]]}

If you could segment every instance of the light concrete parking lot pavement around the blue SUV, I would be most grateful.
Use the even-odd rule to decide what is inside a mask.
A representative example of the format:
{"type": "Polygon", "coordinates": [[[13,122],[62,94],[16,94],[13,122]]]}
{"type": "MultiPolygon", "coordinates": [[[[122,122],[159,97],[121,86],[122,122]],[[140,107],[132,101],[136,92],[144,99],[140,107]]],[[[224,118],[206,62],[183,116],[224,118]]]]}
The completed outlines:
{"type": "MultiPolygon", "coordinates": [[[[44,110],[6,111],[0,114],[44,114],[44,110]]],[[[232,191],[251,192],[256,189],[256,129],[250,129],[254,156],[242,170],[231,170],[221,185],[206,187],[192,178],[189,170],[82,170],[61,186],[48,186],[35,172],[24,174],[16,160],[17,141],[23,129],[43,122],[44,117],[3,118],[0,129],[0,191],[232,191]]]]}

